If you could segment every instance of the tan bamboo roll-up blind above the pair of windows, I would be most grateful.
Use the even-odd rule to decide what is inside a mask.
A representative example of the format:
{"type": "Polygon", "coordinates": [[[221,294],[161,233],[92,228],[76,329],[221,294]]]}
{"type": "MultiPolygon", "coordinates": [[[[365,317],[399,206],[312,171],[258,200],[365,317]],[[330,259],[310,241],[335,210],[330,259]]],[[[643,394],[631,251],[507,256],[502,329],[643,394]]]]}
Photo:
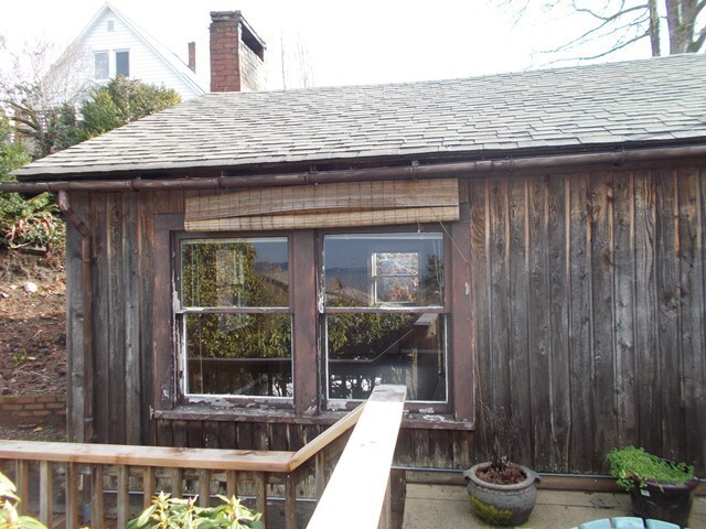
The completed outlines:
{"type": "Polygon", "coordinates": [[[188,231],[382,226],[459,219],[458,181],[263,187],[186,198],[188,231]]]}

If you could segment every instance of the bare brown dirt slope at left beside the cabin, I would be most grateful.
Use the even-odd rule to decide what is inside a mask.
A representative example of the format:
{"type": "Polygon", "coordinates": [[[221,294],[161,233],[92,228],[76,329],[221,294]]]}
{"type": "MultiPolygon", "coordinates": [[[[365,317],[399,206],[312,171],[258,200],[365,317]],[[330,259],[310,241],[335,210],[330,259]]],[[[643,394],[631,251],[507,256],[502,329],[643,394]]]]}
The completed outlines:
{"type": "MultiPolygon", "coordinates": [[[[0,249],[0,395],[66,392],[63,259],[0,249]]],[[[0,424],[0,439],[61,441],[64,421],[0,424]]]]}

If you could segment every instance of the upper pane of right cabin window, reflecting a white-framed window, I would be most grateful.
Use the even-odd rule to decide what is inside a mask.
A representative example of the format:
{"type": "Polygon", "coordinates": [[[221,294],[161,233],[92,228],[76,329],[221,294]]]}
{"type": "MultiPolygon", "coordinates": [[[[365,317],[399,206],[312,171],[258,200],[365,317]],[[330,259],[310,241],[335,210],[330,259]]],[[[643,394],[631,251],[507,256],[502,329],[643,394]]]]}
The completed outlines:
{"type": "Polygon", "coordinates": [[[324,237],[327,306],[440,306],[442,234],[324,237]]]}

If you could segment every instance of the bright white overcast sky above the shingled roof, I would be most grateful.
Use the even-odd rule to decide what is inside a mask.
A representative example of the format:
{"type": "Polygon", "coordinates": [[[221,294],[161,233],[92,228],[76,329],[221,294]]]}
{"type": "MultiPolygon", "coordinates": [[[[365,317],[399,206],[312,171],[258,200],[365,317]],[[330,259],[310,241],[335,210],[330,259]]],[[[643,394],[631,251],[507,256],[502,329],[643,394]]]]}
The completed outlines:
{"type": "MultiPolygon", "coordinates": [[[[61,51],[103,3],[104,0],[1,0],[0,35],[11,51],[31,48],[33,42],[55,43],[61,51]]],[[[210,12],[239,10],[267,44],[268,89],[304,84],[407,83],[556,67],[558,63],[542,52],[577,34],[582,26],[576,18],[542,17],[539,12],[514,23],[513,12],[498,0],[110,3],[184,62],[186,43],[196,42],[196,73],[204,79],[210,12]]],[[[638,46],[610,60],[648,56],[649,50],[638,46]]]]}

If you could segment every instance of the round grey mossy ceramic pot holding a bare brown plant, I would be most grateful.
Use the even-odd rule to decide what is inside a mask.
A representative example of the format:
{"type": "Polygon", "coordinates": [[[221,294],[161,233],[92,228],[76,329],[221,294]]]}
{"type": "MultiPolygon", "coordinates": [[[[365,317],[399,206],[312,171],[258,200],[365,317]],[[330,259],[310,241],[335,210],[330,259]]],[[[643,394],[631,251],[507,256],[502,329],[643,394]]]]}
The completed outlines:
{"type": "Polygon", "coordinates": [[[525,479],[514,485],[496,485],[478,477],[475,472],[490,466],[479,463],[463,473],[468,479],[468,494],[473,511],[482,520],[498,526],[518,526],[527,521],[537,501],[539,475],[530,468],[516,465],[525,479]]]}

